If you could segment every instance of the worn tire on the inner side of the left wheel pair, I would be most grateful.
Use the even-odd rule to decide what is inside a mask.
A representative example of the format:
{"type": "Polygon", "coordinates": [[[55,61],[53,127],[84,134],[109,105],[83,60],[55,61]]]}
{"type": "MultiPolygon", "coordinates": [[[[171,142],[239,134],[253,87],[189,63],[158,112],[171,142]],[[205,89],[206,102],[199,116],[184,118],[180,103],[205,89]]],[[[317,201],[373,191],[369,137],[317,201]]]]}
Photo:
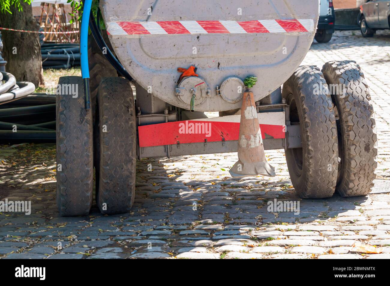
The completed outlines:
{"type": "Polygon", "coordinates": [[[134,203],[137,160],[135,102],[130,82],[120,77],[103,78],[97,98],[100,162],[96,203],[102,213],[129,212],[134,203]]]}

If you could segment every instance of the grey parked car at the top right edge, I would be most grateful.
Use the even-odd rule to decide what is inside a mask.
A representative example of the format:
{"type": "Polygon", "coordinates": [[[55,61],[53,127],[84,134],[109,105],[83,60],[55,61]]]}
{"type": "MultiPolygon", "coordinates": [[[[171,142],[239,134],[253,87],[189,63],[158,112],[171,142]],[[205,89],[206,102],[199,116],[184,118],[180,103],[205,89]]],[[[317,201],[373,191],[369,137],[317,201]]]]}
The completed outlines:
{"type": "Polygon", "coordinates": [[[358,22],[363,37],[372,37],[376,30],[390,28],[390,0],[368,0],[360,6],[358,22]]]}

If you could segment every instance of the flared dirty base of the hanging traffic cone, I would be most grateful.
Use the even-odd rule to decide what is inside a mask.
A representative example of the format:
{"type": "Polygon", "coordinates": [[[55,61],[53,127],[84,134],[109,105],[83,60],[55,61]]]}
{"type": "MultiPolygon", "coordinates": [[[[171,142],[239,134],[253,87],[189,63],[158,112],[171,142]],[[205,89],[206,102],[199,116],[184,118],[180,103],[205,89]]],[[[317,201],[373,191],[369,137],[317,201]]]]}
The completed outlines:
{"type": "Polygon", "coordinates": [[[242,178],[249,176],[266,176],[275,177],[275,168],[268,164],[268,162],[257,162],[257,163],[242,163],[238,160],[234,166],[229,170],[230,175],[233,178],[242,178]],[[240,166],[241,171],[238,171],[240,166]]]}

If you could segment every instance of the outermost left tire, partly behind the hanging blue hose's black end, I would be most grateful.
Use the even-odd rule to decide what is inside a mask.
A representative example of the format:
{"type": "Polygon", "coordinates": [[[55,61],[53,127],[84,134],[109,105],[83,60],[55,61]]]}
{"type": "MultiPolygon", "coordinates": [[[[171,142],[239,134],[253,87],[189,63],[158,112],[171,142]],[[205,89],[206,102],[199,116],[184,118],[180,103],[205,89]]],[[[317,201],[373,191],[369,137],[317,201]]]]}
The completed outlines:
{"type": "Polygon", "coordinates": [[[61,216],[88,215],[92,206],[92,112],[84,109],[81,76],[63,76],[58,82],[76,85],[78,97],[57,95],[57,206],[61,216]],[[58,166],[58,165],[57,165],[58,166]]]}

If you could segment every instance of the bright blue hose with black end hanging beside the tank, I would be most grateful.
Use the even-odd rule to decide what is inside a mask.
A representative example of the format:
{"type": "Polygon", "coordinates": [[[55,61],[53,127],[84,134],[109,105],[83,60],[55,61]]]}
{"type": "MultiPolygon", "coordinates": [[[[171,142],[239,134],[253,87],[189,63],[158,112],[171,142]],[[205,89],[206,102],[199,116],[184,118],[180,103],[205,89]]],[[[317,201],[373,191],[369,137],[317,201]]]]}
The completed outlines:
{"type": "Polygon", "coordinates": [[[88,23],[91,12],[92,0],[84,0],[83,18],[81,21],[80,34],[80,64],[81,74],[84,81],[84,102],[85,109],[90,109],[90,90],[89,90],[89,66],[88,66],[88,23]]]}

